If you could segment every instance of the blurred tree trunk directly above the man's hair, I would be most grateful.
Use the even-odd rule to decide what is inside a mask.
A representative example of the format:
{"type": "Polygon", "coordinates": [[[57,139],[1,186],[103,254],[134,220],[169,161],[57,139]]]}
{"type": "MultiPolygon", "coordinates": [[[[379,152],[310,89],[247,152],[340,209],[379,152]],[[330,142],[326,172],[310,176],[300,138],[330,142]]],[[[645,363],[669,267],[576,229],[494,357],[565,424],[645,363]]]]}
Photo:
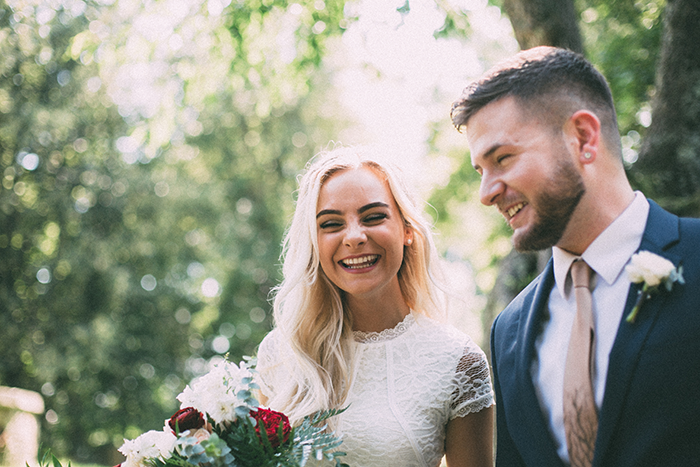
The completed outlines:
{"type": "Polygon", "coordinates": [[[504,0],[503,9],[521,49],[551,45],[583,53],[573,0],[504,0]]]}

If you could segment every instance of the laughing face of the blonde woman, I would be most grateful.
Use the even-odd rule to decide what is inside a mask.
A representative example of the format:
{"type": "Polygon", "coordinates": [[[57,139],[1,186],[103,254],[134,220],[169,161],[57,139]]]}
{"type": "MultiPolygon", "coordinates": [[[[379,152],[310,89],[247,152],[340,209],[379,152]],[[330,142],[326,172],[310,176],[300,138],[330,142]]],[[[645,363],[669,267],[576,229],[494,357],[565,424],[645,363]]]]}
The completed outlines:
{"type": "Polygon", "coordinates": [[[354,298],[389,296],[411,230],[388,183],[370,168],[333,174],[318,197],[316,226],[321,267],[354,298]]]}

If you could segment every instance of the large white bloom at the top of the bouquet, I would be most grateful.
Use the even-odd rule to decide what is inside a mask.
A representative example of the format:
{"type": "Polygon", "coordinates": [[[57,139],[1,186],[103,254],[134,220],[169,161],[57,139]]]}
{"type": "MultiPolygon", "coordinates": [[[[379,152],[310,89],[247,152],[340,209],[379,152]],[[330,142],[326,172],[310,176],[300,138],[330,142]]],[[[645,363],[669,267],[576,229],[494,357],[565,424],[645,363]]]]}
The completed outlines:
{"type": "Polygon", "coordinates": [[[198,378],[192,387],[177,396],[181,407],[194,407],[206,413],[215,423],[233,422],[238,417],[236,408],[246,406],[245,400],[238,397],[242,391],[249,392],[253,373],[245,366],[223,361],[209,373],[198,378]]]}

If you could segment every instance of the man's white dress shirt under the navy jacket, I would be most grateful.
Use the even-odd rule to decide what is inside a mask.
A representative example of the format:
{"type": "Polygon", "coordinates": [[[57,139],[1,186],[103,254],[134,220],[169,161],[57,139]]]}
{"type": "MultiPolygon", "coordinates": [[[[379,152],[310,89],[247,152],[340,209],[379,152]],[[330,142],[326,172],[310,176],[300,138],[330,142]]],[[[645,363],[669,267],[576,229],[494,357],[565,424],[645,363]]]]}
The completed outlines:
{"type": "MultiPolygon", "coordinates": [[[[593,318],[595,320],[595,375],[593,391],[598,410],[603,404],[608,359],[622,319],[630,281],[625,266],[642,241],[649,215],[649,202],[640,192],[632,203],[583,252],[581,258],[593,269],[593,318]]],[[[578,258],[561,248],[552,249],[556,286],[549,294],[549,320],[535,343],[532,379],[557,453],[569,462],[564,432],[564,365],[576,314],[571,293],[571,263],[578,258]]]]}

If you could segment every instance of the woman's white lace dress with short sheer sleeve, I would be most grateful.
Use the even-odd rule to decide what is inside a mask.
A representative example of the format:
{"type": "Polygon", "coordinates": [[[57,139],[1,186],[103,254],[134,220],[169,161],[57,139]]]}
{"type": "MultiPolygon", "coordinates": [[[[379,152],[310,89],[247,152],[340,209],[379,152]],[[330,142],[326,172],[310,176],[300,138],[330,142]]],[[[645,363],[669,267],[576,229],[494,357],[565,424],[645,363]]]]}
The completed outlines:
{"type": "MultiPolygon", "coordinates": [[[[263,340],[260,364],[278,347],[275,335],[263,340]]],[[[393,329],[356,332],[355,341],[349,408],[337,428],[351,467],[436,467],[447,422],[494,403],[484,353],[451,326],[410,314],[393,329]]],[[[263,390],[277,384],[265,381],[263,390]]]]}

